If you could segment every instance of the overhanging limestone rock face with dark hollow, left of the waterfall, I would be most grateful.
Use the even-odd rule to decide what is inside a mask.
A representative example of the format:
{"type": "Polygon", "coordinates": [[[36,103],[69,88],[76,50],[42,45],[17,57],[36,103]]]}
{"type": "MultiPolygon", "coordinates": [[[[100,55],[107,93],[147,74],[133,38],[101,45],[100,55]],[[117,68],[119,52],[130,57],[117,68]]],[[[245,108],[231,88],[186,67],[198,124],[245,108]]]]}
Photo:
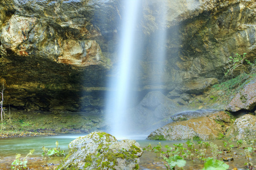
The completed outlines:
{"type": "Polygon", "coordinates": [[[117,1],[1,1],[5,104],[101,113],[117,1]],[[106,43],[106,40],[109,40],[106,43]],[[101,44],[101,45],[100,45],[101,44]]]}

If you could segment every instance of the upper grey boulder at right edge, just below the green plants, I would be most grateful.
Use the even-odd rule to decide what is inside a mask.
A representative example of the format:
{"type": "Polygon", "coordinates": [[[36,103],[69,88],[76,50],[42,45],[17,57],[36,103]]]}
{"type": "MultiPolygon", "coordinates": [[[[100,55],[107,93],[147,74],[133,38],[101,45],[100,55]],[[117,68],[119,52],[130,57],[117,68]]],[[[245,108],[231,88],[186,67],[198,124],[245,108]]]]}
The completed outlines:
{"type": "Polygon", "coordinates": [[[249,83],[245,84],[243,90],[238,92],[232,99],[226,110],[237,112],[241,109],[251,111],[256,106],[256,79],[251,79],[249,83]]]}

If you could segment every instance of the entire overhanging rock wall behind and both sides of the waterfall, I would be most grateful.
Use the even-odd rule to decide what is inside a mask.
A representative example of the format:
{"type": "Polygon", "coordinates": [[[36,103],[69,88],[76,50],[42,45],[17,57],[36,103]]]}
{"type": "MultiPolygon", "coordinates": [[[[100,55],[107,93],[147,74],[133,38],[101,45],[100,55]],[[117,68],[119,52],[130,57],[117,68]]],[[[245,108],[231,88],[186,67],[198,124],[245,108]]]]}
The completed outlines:
{"type": "MultiPolygon", "coordinates": [[[[255,59],[252,1],[142,1],[137,79],[148,91],[202,94],[223,80],[228,57],[255,59]],[[167,8],[167,23],[159,14],[167,8]],[[154,37],[167,29],[166,67],[154,37]],[[152,46],[155,48],[151,53],[152,46]],[[163,73],[163,83],[155,83],[163,73]],[[153,83],[152,83],[153,82],[153,83]]],[[[115,76],[122,1],[1,1],[0,77],[5,104],[39,110],[101,113],[109,76],[115,76]]]]}

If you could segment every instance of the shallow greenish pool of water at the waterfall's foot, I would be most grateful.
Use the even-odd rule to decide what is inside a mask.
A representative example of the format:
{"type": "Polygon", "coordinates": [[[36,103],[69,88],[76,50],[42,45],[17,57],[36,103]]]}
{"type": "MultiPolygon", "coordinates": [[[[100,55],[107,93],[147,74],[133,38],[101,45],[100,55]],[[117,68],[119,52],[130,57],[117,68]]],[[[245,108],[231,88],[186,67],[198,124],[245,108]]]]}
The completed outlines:
{"type": "MultiPolygon", "coordinates": [[[[58,164],[64,159],[64,157],[52,157],[51,159],[44,159],[41,156],[43,150],[42,146],[47,148],[56,147],[55,142],[59,142],[59,147],[61,150],[65,150],[65,153],[68,154],[68,144],[74,139],[86,134],[76,134],[76,135],[57,135],[51,137],[23,137],[23,138],[7,138],[0,139],[0,170],[11,169],[11,163],[15,159],[17,153],[22,155],[22,158],[28,154],[32,149],[35,149],[33,155],[30,155],[28,158],[28,167],[31,169],[56,169],[58,164]]],[[[145,137],[132,137],[137,140],[141,147],[148,146],[149,143],[154,147],[158,145],[159,141],[148,141],[145,137]]],[[[185,141],[161,141],[162,146],[172,146],[174,143],[185,143],[185,141]]],[[[195,142],[196,143],[196,142],[195,142]]],[[[213,141],[216,145],[222,145],[222,141],[213,141]]],[[[233,143],[235,146],[236,144],[233,143]]],[[[198,148],[198,146],[197,146],[198,148]]],[[[211,155],[208,148],[207,155],[211,155]]],[[[256,155],[256,154],[254,154],[256,155]]],[[[233,162],[225,162],[230,165],[229,169],[246,169],[245,168],[245,155],[243,150],[234,148],[231,153],[222,155],[232,156],[234,158],[233,162]],[[234,154],[236,153],[236,154],[234,154]]],[[[256,164],[256,156],[252,156],[251,162],[256,164]]],[[[195,158],[195,162],[187,160],[187,164],[183,169],[203,169],[204,164],[201,164],[199,160],[195,158]]],[[[143,155],[140,158],[140,169],[166,169],[164,166],[164,160],[157,158],[154,152],[144,151],[143,155]]]]}

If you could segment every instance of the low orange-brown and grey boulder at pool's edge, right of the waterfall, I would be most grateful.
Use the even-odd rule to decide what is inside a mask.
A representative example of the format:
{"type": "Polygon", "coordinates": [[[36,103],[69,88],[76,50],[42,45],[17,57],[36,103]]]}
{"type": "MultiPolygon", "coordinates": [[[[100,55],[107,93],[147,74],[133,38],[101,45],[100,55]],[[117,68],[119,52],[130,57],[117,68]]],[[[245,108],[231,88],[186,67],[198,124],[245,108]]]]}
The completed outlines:
{"type": "Polygon", "coordinates": [[[218,139],[224,129],[217,122],[231,123],[228,114],[217,112],[208,117],[171,122],[153,131],[148,136],[148,139],[166,139],[168,141],[179,141],[198,137],[202,140],[218,139]]]}

